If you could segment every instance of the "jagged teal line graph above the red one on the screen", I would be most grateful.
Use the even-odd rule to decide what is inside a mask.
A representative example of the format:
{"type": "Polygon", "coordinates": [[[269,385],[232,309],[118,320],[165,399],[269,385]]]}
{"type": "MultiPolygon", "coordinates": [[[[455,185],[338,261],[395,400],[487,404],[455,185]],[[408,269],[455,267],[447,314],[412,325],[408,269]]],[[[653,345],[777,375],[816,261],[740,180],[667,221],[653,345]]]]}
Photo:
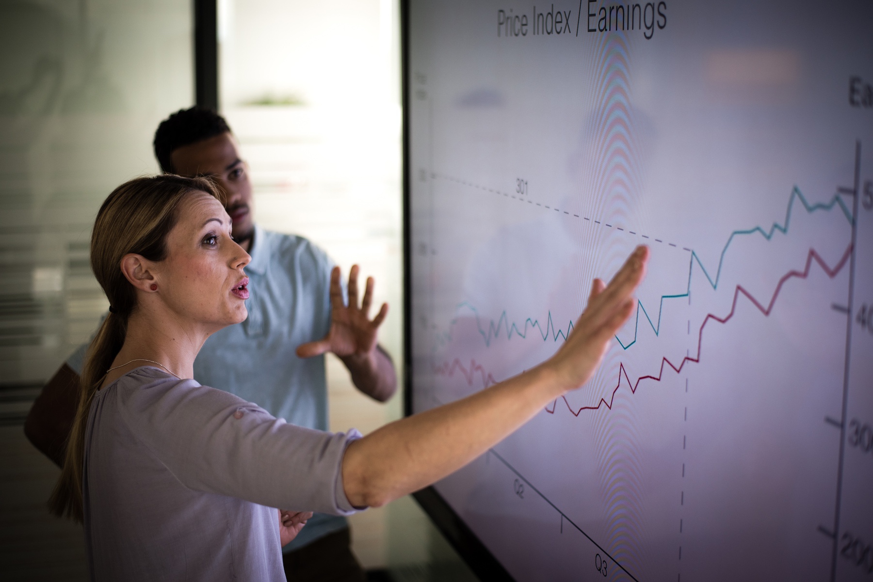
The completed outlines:
{"type": "MultiPolygon", "coordinates": [[[[634,325],[634,339],[632,341],[630,341],[629,343],[625,344],[624,342],[622,342],[621,338],[619,338],[617,335],[615,336],[615,339],[618,340],[618,343],[620,346],[622,346],[622,349],[627,350],[630,346],[633,346],[634,344],[636,344],[636,339],[637,339],[637,335],[639,332],[640,312],[643,312],[643,315],[645,316],[646,320],[649,322],[649,325],[651,326],[652,331],[655,332],[655,335],[658,336],[660,334],[661,315],[663,313],[663,301],[664,301],[664,299],[677,299],[677,298],[689,297],[689,295],[691,294],[691,277],[692,277],[693,272],[694,272],[694,263],[695,262],[697,262],[697,264],[699,265],[700,270],[703,271],[703,273],[706,277],[706,280],[709,281],[709,284],[711,285],[712,289],[716,290],[716,289],[718,289],[718,281],[721,277],[722,266],[725,263],[725,254],[727,253],[727,250],[730,248],[734,237],[743,236],[743,235],[753,235],[757,232],[761,236],[763,236],[767,241],[770,241],[773,239],[773,235],[776,233],[776,231],[781,232],[783,235],[787,235],[788,228],[791,225],[791,216],[792,216],[792,211],[794,209],[794,201],[795,200],[799,200],[801,202],[801,204],[803,205],[803,208],[806,209],[808,214],[812,214],[813,212],[815,212],[817,210],[830,211],[830,210],[834,209],[836,206],[839,206],[840,209],[842,209],[842,214],[844,216],[846,216],[846,220],[849,221],[849,226],[851,226],[851,224],[853,223],[852,212],[849,209],[849,207],[846,206],[846,203],[842,202],[842,198],[840,197],[839,193],[835,194],[828,202],[817,202],[815,204],[810,204],[807,201],[806,197],[804,197],[800,188],[797,188],[796,186],[794,186],[794,188],[792,188],[792,190],[791,190],[791,195],[788,197],[788,204],[787,204],[787,209],[785,211],[785,223],[784,224],[773,223],[773,225],[770,227],[770,229],[768,231],[760,226],[756,226],[753,229],[734,230],[731,233],[731,236],[728,236],[727,243],[725,243],[725,247],[722,249],[721,255],[718,259],[718,269],[716,270],[714,279],[711,277],[709,271],[706,270],[705,265],[700,260],[700,257],[698,257],[697,253],[693,250],[691,251],[691,261],[690,261],[689,269],[688,269],[688,285],[685,289],[685,292],[661,296],[661,301],[660,301],[660,305],[658,308],[657,324],[655,324],[652,321],[652,318],[650,317],[649,312],[646,311],[646,308],[643,305],[643,302],[638,300],[636,302],[636,323],[634,325]]],[[[525,323],[523,325],[523,328],[519,328],[519,325],[516,325],[515,323],[511,324],[509,322],[509,316],[504,311],[500,314],[500,317],[498,318],[497,322],[495,322],[493,319],[491,319],[491,322],[488,325],[488,329],[486,330],[485,327],[482,325],[481,318],[479,318],[479,312],[474,305],[471,305],[470,303],[464,301],[464,302],[459,303],[456,306],[456,312],[460,311],[461,309],[469,309],[471,312],[473,312],[473,315],[476,318],[476,325],[478,326],[478,332],[482,335],[482,338],[485,339],[485,346],[491,346],[491,341],[493,341],[493,339],[498,337],[498,334],[500,333],[501,327],[505,328],[505,330],[506,330],[506,339],[512,339],[513,334],[518,335],[522,339],[525,339],[527,337],[527,333],[530,330],[533,330],[533,328],[537,328],[540,330],[540,337],[543,339],[543,341],[546,341],[550,337],[553,339],[553,341],[558,341],[559,338],[567,339],[567,335],[573,330],[573,321],[572,320],[567,324],[567,331],[564,331],[563,328],[560,328],[560,329],[556,328],[554,325],[554,322],[552,320],[552,312],[551,311],[548,312],[548,317],[546,319],[546,328],[545,329],[543,329],[543,327],[540,325],[539,319],[534,319],[534,318],[526,318],[525,323]]],[[[456,322],[457,322],[457,317],[451,320],[450,330],[451,330],[451,327],[453,325],[455,325],[456,322]]],[[[449,342],[449,341],[451,341],[451,331],[443,332],[443,334],[440,334],[440,336],[437,338],[438,344],[444,344],[444,343],[449,342]]]]}

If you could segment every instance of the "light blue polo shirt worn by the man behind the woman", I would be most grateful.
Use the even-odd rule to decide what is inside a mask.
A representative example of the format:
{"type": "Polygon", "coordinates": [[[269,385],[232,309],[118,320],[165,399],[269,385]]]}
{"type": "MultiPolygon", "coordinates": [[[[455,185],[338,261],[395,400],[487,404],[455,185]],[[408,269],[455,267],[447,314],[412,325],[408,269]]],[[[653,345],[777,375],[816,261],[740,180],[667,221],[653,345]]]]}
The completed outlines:
{"type": "MultiPolygon", "coordinates": [[[[330,329],[333,262],[306,238],[257,226],[249,253],[249,317],[206,340],[194,361],[194,379],[237,394],[291,424],[327,430],[324,356],[300,359],[295,350],[330,329]]],[[[85,349],[79,347],[67,359],[77,373],[85,349]]],[[[283,551],[345,527],[345,517],[317,513],[283,551]]]]}

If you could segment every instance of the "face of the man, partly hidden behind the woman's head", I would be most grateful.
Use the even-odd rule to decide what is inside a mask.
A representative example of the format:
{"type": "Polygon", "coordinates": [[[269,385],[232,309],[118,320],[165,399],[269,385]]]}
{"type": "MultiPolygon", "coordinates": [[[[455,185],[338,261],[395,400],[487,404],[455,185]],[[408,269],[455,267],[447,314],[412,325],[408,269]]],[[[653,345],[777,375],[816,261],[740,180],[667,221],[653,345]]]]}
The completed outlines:
{"type": "Polygon", "coordinates": [[[170,162],[178,175],[209,176],[224,192],[225,209],[233,221],[233,237],[245,242],[254,233],[251,218],[251,182],[245,162],[239,159],[237,141],[220,134],[187,146],[176,147],[170,162]]]}

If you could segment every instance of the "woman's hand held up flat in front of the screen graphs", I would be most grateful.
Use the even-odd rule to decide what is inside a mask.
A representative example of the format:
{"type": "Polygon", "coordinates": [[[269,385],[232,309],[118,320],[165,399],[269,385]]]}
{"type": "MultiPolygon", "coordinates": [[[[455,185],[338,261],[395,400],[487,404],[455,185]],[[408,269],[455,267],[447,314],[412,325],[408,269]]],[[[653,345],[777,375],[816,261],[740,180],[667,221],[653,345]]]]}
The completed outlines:
{"type": "Polygon", "coordinates": [[[555,375],[555,387],[564,394],[591,378],[609,347],[609,340],[634,311],[633,294],[646,274],[649,247],[640,245],[615,273],[608,285],[595,279],[588,305],[576,320],[573,332],[543,366],[555,375]]]}

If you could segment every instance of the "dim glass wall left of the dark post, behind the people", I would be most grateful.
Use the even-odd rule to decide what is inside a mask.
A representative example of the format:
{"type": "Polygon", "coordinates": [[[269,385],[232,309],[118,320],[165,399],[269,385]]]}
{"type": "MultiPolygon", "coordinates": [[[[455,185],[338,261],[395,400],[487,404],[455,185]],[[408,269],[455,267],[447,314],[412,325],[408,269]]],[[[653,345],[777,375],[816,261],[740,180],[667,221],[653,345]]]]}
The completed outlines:
{"type": "Polygon", "coordinates": [[[189,0],[0,3],[0,564],[3,579],[85,579],[81,529],[50,517],[57,476],[24,440],[39,388],[107,302],[93,218],[158,169],[157,123],[193,101],[189,0]]]}

